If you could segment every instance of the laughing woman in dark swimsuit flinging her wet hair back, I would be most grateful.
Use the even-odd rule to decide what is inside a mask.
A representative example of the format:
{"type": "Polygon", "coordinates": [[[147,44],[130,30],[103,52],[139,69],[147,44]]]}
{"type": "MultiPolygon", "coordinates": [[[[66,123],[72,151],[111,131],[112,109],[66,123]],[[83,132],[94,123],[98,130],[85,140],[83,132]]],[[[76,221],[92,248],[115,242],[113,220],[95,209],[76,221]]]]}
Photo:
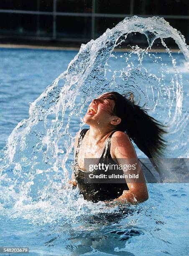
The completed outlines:
{"type": "MultiPolygon", "coordinates": [[[[84,159],[100,159],[98,163],[108,159],[117,165],[132,166],[138,163],[138,158],[131,140],[148,158],[158,156],[165,146],[163,125],[135,105],[132,98],[117,92],[107,92],[92,100],[83,121],[89,129],[83,129],[75,139],[73,186],[78,186],[84,199],[92,202],[114,200],[136,204],[146,201],[148,190],[140,164],[127,170],[124,182],[92,183],[85,180],[89,170],[85,169],[84,159]],[[128,178],[136,174],[139,179],[128,178]]],[[[92,172],[97,173],[97,170],[92,172]]]]}

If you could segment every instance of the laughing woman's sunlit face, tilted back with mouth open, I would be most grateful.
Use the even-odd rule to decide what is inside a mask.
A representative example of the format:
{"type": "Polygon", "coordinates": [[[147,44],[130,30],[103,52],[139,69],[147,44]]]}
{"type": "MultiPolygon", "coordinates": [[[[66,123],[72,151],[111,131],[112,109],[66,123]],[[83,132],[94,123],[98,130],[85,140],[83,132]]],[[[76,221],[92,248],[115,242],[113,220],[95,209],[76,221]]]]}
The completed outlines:
{"type": "Polygon", "coordinates": [[[111,120],[115,117],[113,115],[115,102],[114,100],[103,99],[103,95],[92,100],[89,104],[87,113],[83,118],[84,123],[97,126],[110,125],[111,120]]]}

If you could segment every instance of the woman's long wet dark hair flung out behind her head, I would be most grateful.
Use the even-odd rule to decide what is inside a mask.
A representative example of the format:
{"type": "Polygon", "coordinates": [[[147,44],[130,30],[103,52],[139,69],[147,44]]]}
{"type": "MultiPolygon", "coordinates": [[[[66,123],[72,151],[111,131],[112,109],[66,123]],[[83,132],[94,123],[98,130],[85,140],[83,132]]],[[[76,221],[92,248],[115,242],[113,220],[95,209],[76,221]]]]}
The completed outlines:
{"type": "Polygon", "coordinates": [[[162,150],[166,147],[166,141],[163,139],[166,126],[149,116],[140,106],[135,105],[132,93],[128,96],[118,92],[107,92],[96,100],[105,99],[115,102],[112,115],[121,118],[117,130],[126,132],[148,158],[163,154],[162,150]]]}

